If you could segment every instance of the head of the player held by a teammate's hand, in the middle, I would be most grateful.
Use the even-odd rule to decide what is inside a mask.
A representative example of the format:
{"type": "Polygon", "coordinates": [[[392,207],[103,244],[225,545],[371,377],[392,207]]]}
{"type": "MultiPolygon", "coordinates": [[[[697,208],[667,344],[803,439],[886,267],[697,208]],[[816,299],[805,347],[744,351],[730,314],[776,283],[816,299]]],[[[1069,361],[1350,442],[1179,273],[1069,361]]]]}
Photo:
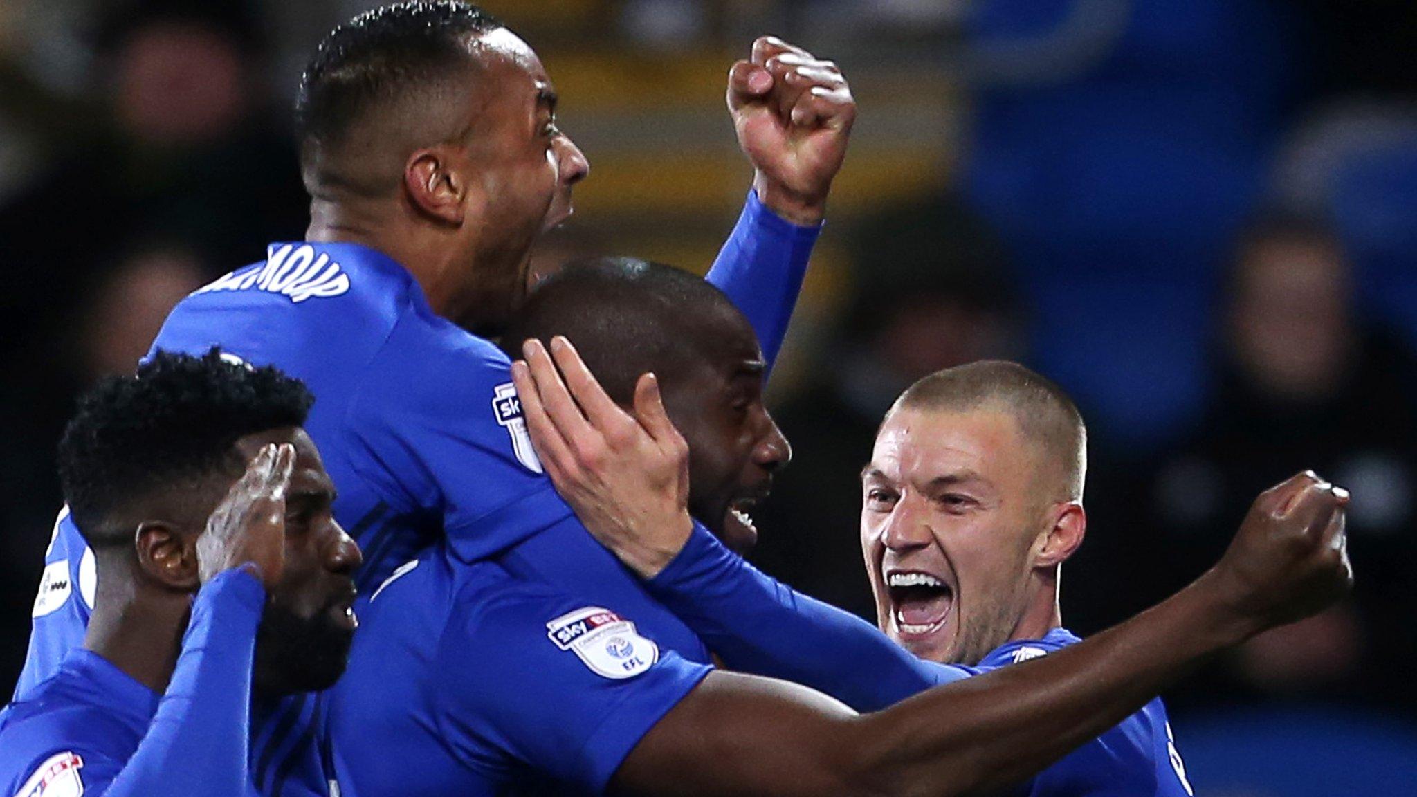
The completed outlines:
{"type": "Polygon", "coordinates": [[[527,299],[503,336],[584,340],[587,364],[619,404],[655,372],[689,441],[689,511],[740,553],[757,543],[752,508],[792,448],[762,404],[768,363],[748,319],[693,274],[631,258],[570,264],[527,299]]]}

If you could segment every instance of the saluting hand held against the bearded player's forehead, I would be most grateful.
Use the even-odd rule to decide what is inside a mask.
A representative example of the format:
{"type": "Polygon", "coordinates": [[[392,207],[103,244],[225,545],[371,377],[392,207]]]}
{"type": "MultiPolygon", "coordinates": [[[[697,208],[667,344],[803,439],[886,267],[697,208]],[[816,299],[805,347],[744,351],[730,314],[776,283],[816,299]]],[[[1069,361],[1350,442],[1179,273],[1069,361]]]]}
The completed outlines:
{"type": "Polygon", "coordinates": [[[295,447],[266,445],[197,537],[197,574],[203,584],[232,567],[247,567],[266,589],[285,570],[285,491],[295,469],[295,447]]]}

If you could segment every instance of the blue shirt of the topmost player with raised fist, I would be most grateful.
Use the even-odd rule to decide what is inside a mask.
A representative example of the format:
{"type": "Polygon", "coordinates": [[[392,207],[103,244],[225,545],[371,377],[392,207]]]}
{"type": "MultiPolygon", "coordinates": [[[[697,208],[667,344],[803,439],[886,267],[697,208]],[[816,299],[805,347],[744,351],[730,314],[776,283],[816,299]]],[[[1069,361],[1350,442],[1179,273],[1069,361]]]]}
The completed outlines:
{"type": "MultiPolygon", "coordinates": [[[[788,224],[750,193],[710,271],[769,357],[816,235],[818,228],[788,224]]],[[[183,299],[153,346],[201,353],[214,345],[254,364],[275,364],[315,393],[306,430],[339,488],[336,516],[364,550],[361,596],[417,552],[446,540],[445,552],[459,562],[496,557],[517,579],[632,618],[662,651],[707,661],[697,637],[580,528],[541,475],[509,360],[436,316],[388,257],[356,244],[272,244],[264,261],[183,299]]],[[[47,566],[79,579],[84,550],[78,530],[62,520],[47,566]]],[[[71,594],[50,603],[52,610],[34,621],[20,696],[82,641],[84,601],[71,594]]],[[[670,661],[666,655],[653,667],[670,661]]],[[[268,750],[259,769],[269,777],[288,767],[303,771],[324,710],[324,696],[299,696],[256,723],[252,743],[268,750]]],[[[574,699],[565,710],[577,710],[574,699]]],[[[323,754],[332,756],[327,745],[323,754]]]]}

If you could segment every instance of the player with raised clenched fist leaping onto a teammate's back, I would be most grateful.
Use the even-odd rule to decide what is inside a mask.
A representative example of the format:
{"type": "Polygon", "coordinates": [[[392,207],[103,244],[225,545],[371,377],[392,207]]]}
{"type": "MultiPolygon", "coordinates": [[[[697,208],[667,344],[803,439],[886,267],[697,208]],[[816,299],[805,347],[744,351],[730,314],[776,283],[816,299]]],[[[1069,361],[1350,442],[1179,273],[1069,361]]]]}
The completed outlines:
{"type": "MultiPolygon", "coordinates": [[[[306,428],[340,484],[336,516],[367,553],[364,594],[432,540],[469,559],[517,550],[533,567],[524,577],[638,607],[665,644],[707,659],[540,474],[509,362],[485,338],[519,303],[530,247],[571,213],[588,172],[555,101],[536,52],[470,4],[402,3],[341,26],[298,106],[306,240],[275,243],[265,261],[180,302],[156,346],[220,343],[319,397],[306,428]]],[[[762,38],[733,67],[728,105],[754,177],[710,278],[781,342],[854,104],[835,65],[762,38]]],[[[47,572],[82,583],[86,562],[61,518],[47,572]]],[[[91,604],[75,594],[44,608],[21,698],[82,644],[91,604]]],[[[295,695],[258,722],[261,783],[283,780],[286,796],[334,790],[292,774],[333,757],[319,745],[324,708],[295,695]]]]}

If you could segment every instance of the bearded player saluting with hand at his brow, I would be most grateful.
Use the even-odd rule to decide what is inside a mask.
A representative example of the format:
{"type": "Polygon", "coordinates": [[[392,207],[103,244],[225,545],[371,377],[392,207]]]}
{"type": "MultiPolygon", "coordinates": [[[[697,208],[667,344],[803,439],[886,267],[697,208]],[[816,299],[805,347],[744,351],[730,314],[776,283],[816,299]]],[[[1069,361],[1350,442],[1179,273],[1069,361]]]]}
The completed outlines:
{"type": "Polygon", "coordinates": [[[96,557],[94,614],[0,712],[0,793],[271,793],[252,713],[333,684],[356,627],[360,552],[330,515],[309,406],[299,381],[217,352],[160,353],[81,401],[60,471],[96,557]]]}

